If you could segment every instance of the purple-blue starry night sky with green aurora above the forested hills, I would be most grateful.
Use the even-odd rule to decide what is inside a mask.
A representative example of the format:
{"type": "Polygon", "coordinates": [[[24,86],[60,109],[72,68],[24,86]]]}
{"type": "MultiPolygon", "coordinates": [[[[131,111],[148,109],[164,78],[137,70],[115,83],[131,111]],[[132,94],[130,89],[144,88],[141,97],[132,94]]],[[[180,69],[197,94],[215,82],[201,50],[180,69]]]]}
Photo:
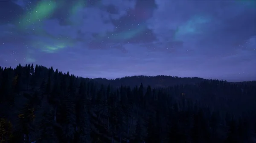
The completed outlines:
{"type": "Polygon", "coordinates": [[[0,66],[256,80],[255,0],[0,1],[0,66]]]}

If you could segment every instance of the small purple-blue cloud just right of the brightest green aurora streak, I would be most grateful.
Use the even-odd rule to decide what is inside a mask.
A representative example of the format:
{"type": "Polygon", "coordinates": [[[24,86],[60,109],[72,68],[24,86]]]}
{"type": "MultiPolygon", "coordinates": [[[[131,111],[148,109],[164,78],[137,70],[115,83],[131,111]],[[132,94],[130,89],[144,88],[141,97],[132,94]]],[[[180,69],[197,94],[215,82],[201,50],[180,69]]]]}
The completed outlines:
{"type": "Polygon", "coordinates": [[[93,34],[105,36],[114,31],[109,14],[97,7],[81,7],[69,17],[69,25],[61,25],[60,20],[49,19],[44,21],[43,29],[52,36],[65,36],[78,40],[91,41],[93,34]]]}

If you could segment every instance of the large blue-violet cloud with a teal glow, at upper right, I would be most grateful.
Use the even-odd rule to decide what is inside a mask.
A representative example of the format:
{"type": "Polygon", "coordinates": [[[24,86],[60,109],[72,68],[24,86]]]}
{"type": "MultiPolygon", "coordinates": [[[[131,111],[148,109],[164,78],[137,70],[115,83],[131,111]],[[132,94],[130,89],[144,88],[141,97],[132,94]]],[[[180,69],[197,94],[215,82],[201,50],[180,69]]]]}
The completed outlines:
{"type": "Polygon", "coordinates": [[[198,47],[230,46],[255,35],[256,12],[247,3],[156,1],[157,9],[148,20],[148,28],[160,41],[178,39],[198,47]]]}

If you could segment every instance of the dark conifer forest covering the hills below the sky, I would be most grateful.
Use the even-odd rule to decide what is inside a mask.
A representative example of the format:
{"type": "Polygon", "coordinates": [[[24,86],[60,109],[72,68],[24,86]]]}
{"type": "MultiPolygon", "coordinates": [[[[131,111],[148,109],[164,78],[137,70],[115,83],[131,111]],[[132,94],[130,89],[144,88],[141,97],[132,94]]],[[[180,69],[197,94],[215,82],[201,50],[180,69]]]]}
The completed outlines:
{"type": "Polygon", "coordinates": [[[256,143],[256,81],[0,67],[0,143],[256,143]]]}

